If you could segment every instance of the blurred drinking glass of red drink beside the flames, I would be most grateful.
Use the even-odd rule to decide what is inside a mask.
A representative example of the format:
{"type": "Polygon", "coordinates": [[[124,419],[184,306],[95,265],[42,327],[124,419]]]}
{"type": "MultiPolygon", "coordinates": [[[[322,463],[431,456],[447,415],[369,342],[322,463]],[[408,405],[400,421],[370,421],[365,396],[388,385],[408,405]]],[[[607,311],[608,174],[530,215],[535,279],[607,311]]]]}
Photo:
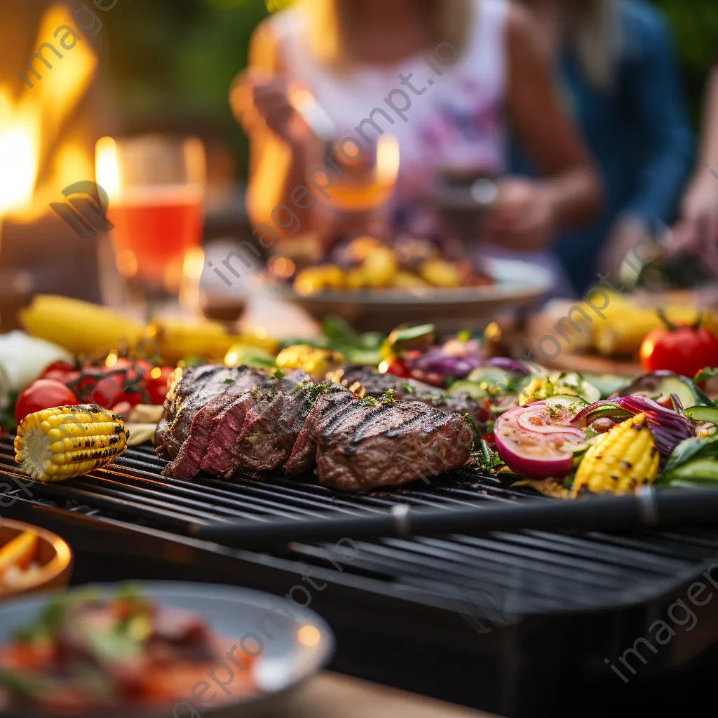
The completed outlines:
{"type": "Polygon", "coordinates": [[[198,294],[203,266],[205,151],[194,137],[104,137],[95,175],[107,195],[118,273],[145,310],[198,294]]]}

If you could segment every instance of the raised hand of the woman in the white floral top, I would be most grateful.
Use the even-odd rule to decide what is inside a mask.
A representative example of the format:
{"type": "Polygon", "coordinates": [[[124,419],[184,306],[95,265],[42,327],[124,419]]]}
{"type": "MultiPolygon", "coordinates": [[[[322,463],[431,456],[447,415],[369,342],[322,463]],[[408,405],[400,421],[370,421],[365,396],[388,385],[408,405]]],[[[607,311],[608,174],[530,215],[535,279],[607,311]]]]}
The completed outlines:
{"type": "Polygon", "coordinates": [[[307,142],[307,125],[289,101],[289,84],[279,75],[256,69],[241,73],[232,83],[230,106],[248,134],[264,123],[292,146],[307,142]]]}

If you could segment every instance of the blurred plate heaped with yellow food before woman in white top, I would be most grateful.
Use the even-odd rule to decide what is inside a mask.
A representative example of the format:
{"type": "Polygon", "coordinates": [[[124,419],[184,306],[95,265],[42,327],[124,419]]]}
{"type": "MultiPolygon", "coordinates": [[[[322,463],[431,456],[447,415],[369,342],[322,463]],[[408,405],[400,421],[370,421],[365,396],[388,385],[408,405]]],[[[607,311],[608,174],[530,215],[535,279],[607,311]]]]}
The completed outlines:
{"type": "Polygon", "coordinates": [[[550,284],[549,272],[529,262],[487,258],[477,269],[411,237],[391,247],[359,237],[320,263],[283,250],[266,272],[267,291],[314,320],[333,315],[360,332],[389,332],[402,322],[480,329],[498,309],[531,304],[550,284]]]}

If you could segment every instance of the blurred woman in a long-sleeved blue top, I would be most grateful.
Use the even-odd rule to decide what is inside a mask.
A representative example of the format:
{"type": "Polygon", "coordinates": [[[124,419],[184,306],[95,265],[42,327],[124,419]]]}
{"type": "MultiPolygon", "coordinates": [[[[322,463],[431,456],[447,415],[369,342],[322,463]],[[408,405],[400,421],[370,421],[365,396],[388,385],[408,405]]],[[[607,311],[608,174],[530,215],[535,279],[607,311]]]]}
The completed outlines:
{"type": "MultiPolygon", "coordinates": [[[[693,139],[671,32],[658,10],[638,0],[527,1],[604,183],[600,220],[554,243],[574,291],[584,292],[671,221],[693,139]]],[[[510,167],[535,174],[516,145],[510,167]]]]}

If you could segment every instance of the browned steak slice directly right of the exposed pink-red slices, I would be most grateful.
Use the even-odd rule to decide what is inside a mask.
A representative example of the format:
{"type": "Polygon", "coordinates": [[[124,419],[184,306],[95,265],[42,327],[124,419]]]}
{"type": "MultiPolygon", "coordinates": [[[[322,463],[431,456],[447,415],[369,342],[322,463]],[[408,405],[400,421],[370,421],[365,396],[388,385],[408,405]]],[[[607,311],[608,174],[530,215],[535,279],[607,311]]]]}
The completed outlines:
{"type": "Polygon", "coordinates": [[[289,458],[321,384],[299,384],[292,393],[257,401],[247,412],[232,460],[241,469],[269,471],[289,458]]]}

